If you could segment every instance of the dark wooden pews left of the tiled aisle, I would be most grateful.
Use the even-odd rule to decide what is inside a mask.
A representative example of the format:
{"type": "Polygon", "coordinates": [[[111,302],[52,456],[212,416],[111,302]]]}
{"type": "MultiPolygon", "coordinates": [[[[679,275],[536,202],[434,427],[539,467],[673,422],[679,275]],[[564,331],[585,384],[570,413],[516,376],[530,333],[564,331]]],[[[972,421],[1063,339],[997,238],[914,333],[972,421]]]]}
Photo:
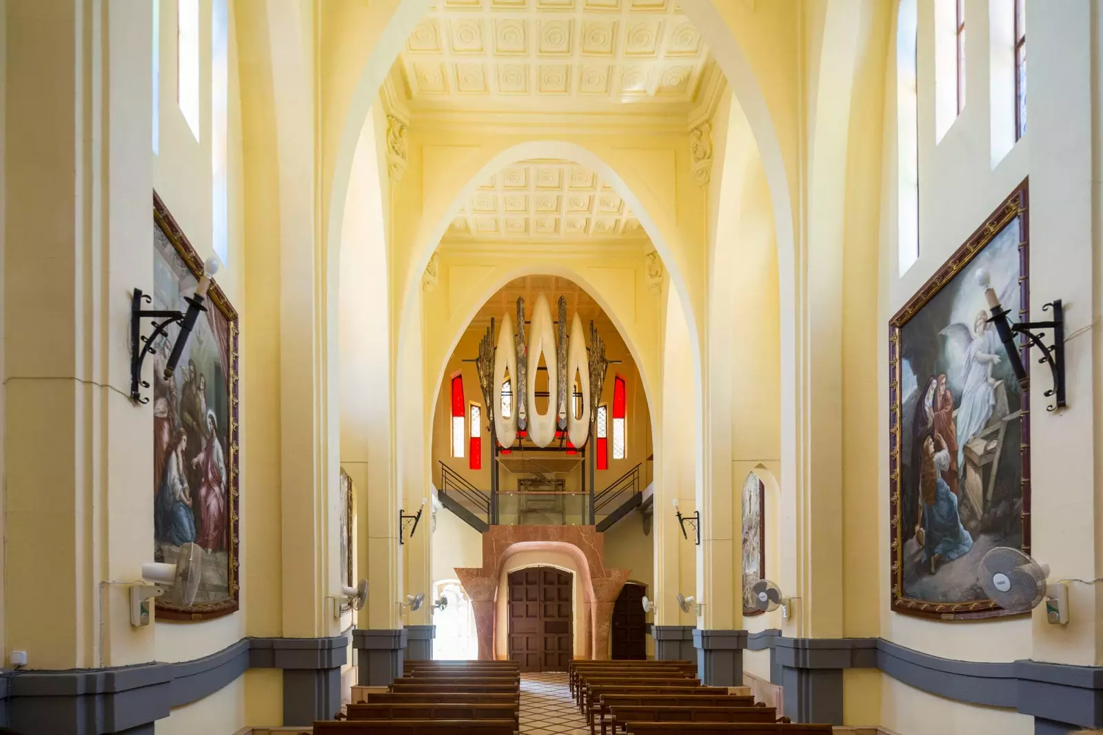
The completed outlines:
{"type": "Polygon", "coordinates": [[[515,735],[521,677],[513,661],[407,661],[386,692],[350,704],[314,735],[515,735]]]}

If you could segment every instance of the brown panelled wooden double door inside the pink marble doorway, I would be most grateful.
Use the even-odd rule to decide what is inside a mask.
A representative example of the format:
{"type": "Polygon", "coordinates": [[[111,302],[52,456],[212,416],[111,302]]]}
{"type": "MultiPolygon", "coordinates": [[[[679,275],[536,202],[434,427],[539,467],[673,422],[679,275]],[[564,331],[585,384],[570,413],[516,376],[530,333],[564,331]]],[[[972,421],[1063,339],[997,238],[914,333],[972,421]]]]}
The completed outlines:
{"type": "Polygon", "coordinates": [[[510,659],[521,671],[566,671],[572,652],[569,572],[533,566],[511,572],[510,659]]]}

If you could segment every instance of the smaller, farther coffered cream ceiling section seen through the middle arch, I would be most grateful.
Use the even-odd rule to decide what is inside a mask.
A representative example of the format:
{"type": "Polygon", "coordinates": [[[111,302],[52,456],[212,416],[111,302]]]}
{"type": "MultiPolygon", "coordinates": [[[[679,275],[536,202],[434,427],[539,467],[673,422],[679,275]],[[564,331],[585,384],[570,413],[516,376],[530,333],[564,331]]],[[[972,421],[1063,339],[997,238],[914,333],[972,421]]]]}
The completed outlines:
{"type": "Polygon", "coordinates": [[[518,161],[475,190],[445,234],[452,241],[640,241],[647,234],[595,171],[561,159],[518,161]]]}

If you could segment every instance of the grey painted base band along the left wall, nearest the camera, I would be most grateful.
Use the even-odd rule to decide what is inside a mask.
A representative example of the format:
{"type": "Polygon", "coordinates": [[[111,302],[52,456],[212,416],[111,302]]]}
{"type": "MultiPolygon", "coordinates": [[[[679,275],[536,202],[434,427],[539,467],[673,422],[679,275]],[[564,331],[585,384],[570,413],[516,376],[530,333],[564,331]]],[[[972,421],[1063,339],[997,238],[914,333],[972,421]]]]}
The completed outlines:
{"type": "Polygon", "coordinates": [[[243,638],[194,661],[3,672],[0,724],[28,735],[153,735],[153,723],[172,707],[217,692],[250,668],[282,669],[285,713],[300,718],[287,724],[309,724],[332,717],[334,702],[340,707],[347,647],[345,636],[243,638]],[[319,695],[319,675],[335,677],[335,700],[319,695]]]}

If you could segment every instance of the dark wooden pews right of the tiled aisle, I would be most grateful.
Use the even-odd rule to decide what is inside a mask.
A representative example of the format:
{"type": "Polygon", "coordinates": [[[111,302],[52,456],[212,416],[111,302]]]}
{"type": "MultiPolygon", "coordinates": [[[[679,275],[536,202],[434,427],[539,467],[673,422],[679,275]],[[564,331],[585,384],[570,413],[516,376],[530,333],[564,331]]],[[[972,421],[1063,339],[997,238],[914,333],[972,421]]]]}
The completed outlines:
{"type": "Polygon", "coordinates": [[[831,725],[794,724],[751,696],[703,686],[693,661],[572,661],[568,683],[591,735],[831,735],[831,725]]]}

